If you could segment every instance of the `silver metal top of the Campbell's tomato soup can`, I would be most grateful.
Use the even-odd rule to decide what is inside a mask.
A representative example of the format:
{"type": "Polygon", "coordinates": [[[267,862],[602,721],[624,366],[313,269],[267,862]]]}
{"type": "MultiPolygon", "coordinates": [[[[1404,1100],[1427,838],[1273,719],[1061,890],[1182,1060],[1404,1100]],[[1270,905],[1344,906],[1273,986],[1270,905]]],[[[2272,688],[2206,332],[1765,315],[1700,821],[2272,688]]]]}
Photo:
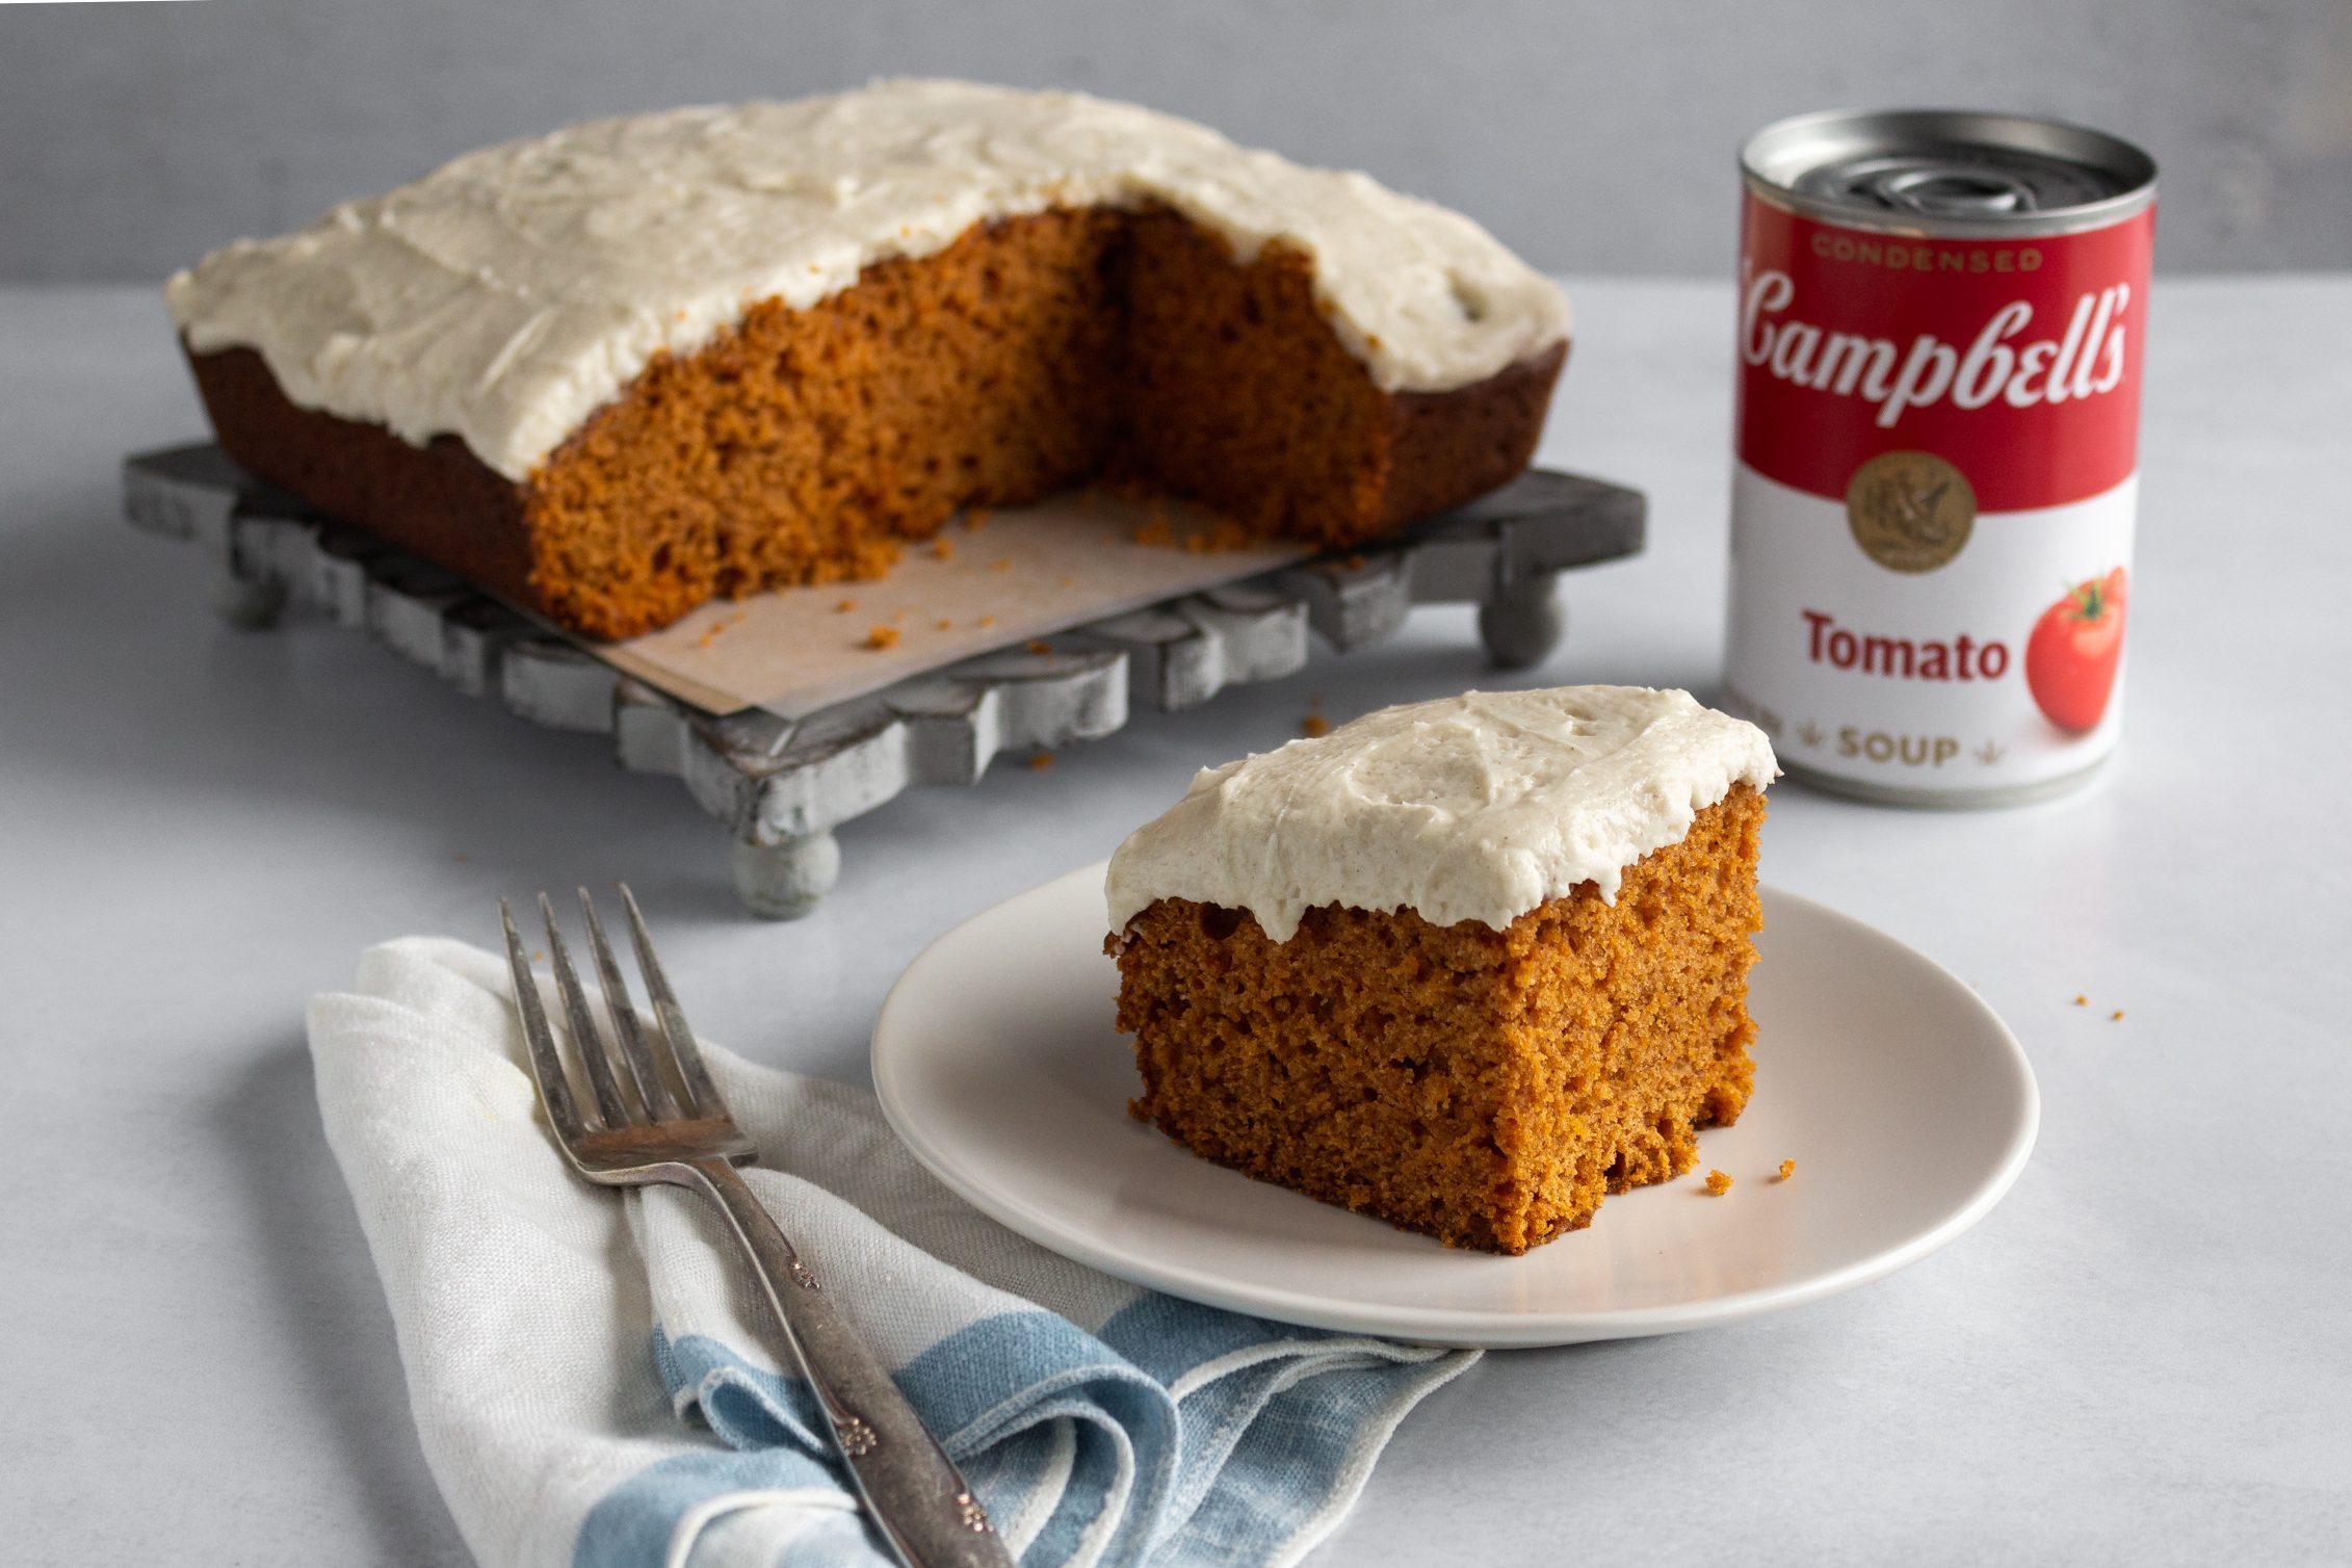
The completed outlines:
{"type": "Polygon", "coordinates": [[[1740,148],[1740,169],[1783,207],[1900,233],[2070,233],[2157,197],[2157,162],[2119,136],[1952,108],[1776,120],[1740,148]]]}

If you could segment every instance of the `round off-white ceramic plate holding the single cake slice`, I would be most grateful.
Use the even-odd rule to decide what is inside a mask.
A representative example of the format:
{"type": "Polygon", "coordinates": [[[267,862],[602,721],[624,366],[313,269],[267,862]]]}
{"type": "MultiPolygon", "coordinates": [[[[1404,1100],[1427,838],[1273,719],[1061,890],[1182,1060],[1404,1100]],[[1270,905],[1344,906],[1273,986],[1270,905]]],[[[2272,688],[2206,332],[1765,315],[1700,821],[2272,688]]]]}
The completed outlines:
{"type": "Polygon", "coordinates": [[[882,1110],[1023,1237],[1192,1300],[1439,1345],[1566,1345],[1731,1324],[1851,1291],[1980,1220],[2034,1145],[2016,1037],[1903,943],[1764,891],[1757,1091],[1700,1168],[1524,1258],[1451,1251],[1195,1159],[1127,1114],[1103,867],[931,943],[875,1023],[882,1110]],[[1773,1180],[1783,1159],[1792,1180],[1773,1180]],[[1736,1185],[1700,1187],[1705,1168],[1736,1185]]]}

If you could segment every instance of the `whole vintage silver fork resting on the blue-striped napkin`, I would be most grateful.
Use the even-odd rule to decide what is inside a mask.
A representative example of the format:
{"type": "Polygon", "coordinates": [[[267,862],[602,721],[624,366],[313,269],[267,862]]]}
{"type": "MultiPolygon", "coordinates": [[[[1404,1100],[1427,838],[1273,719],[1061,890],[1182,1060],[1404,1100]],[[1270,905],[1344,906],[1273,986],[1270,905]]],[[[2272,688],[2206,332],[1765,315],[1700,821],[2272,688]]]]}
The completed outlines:
{"type": "Polygon", "coordinates": [[[736,1175],[736,1166],[757,1161],[760,1150],[736,1128],[727,1103],[710,1084],[701,1046],[694,1044],[677,994],[661,973],[654,938],[626,884],[621,903],[628,910],[628,936],[637,950],[637,969],[644,973],[663,1051],[656,1056],[637,1027],[628,980],[604,940],[588,889],[581,889],[581,919],[604,992],[604,1016],[619,1046],[616,1063],[572,971],[555,905],[546,893],[539,896],[567,1032],[595,1098],[590,1112],[574,1095],[574,1079],[564,1070],[562,1048],[539,999],[539,983],[532,978],[532,959],[515,933],[515,914],[503,898],[499,900],[506,957],[515,969],[515,1011],[532,1046],[532,1077],[539,1081],[539,1103],[555,1126],[555,1145],[564,1152],[564,1161],[604,1187],[670,1182],[713,1199],[767,1291],[786,1359],[816,1392],[826,1427],[849,1465],[866,1512],[898,1561],[908,1568],[1011,1568],[1011,1554],[990,1528],[964,1476],[842,1314],[830,1281],[818,1279],[736,1175]]]}

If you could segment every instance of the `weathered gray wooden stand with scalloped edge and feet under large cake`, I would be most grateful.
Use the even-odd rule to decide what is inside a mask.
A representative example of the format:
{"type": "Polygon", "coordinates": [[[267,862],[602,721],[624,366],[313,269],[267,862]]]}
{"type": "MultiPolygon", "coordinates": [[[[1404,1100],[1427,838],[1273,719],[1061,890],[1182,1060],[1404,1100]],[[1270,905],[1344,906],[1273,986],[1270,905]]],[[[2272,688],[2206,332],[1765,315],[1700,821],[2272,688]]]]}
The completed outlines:
{"type": "Polygon", "coordinates": [[[1296,672],[1312,628],[1334,649],[1381,642],[1414,604],[1477,604],[1501,668],[1538,663],[1566,621],[1557,578],[1642,548],[1639,491],[1531,470],[1359,552],[1327,555],[924,672],[804,719],[708,715],[621,675],[466,581],[320,517],[219,447],[122,463],[122,505],[219,569],[233,625],[322,609],[459,691],[553,729],[609,733],[621,766],[675,773],[734,832],[734,884],[771,919],[807,914],[840,875],[833,830],[910,785],[969,785],[1004,750],[1094,741],[1134,708],[1190,708],[1296,672]]]}

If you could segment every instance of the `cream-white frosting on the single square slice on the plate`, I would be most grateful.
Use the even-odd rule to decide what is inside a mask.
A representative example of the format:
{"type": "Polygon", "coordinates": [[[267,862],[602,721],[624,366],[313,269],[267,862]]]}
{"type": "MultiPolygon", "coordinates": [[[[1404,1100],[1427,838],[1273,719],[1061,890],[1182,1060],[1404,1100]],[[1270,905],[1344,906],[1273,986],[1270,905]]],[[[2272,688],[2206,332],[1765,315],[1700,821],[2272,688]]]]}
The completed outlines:
{"type": "Polygon", "coordinates": [[[1468,691],[1202,769],[1110,858],[1110,929],[1160,898],[1249,910],[1277,943],[1327,903],[1501,931],[1679,842],[1778,776],[1764,731],[1689,691],[1468,691]]]}

